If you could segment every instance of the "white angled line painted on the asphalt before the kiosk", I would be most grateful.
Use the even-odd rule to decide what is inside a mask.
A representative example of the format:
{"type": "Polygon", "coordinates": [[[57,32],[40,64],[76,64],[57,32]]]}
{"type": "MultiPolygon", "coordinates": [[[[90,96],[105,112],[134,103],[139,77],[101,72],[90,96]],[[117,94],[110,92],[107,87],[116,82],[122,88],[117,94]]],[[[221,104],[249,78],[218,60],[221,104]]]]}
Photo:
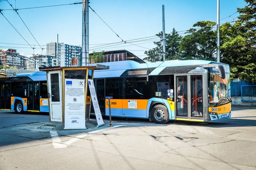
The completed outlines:
{"type": "Polygon", "coordinates": [[[51,130],[50,135],[52,137],[52,144],[53,144],[54,148],[65,148],[68,145],[71,145],[72,143],[78,141],[79,139],[82,139],[82,138],[86,137],[89,134],[94,134],[94,133],[98,133],[98,132],[103,131],[103,130],[108,130],[108,129],[117,128],[117,127],[121,127],[121,126],[125,126],[125,125],[117,125],[117,126],[106,127],[104,129],[91,131],[91,132],[88,132],[86,134],[78,135],[77,137],[71,138],[68,141],[65,141],[63,143],[61,143],[61,139],[60,139],[59,134],[57,133],[56,130],[51,130]]]}

